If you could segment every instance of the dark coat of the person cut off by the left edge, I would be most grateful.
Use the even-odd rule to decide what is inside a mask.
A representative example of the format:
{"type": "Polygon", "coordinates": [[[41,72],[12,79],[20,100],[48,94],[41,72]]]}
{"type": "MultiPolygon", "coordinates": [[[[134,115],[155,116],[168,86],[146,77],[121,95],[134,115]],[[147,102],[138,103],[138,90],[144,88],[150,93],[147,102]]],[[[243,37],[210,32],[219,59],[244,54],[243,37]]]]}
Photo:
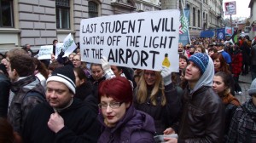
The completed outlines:
{"type": "Polygon", "coordinates": [[[0,117],[7,117],[9,104],[9,79],[0,72],[0,117]]]}

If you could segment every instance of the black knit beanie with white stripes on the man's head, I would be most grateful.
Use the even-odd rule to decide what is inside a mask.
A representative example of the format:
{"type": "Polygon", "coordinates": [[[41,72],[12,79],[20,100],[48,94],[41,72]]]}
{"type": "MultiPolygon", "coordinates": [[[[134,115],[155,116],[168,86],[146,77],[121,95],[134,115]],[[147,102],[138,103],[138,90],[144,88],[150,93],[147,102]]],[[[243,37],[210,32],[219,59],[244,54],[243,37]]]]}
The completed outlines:
{"type": "Polygon", "coordinates": [[[67,88],[71,89],[73,94],[75,94],[76,93],[75,79],[76,78],[73,72],[73,67],[62,66],[62,67],[56,68],[55,71],[51,73],[46,83],[48,83],[49,81],[64,83],[67,86],[67,88]]]}

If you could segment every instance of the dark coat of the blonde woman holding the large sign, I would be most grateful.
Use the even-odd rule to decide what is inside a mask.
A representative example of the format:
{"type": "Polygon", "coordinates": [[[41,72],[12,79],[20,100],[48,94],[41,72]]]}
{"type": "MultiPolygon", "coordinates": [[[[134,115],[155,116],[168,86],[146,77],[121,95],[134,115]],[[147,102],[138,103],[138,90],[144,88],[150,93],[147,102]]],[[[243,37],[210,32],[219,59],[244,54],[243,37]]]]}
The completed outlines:
{"type": "Polygon", "coordinates": [[[163,131],[169,128],[172,123],[177,122],[178,113],[181,110],[181,97],[177,93],[176,86],[171,83],[165,86],[166,106],[161,106],[161,91],[157,94],[157,105],[154,106],[149,100],[151,89],[148,89],[147,102],[139,104],[137,102],[137,89],[135,90],[134,106],[137,110],[148,113],[154,118],[156,134],[163,134],[163,131]]]}

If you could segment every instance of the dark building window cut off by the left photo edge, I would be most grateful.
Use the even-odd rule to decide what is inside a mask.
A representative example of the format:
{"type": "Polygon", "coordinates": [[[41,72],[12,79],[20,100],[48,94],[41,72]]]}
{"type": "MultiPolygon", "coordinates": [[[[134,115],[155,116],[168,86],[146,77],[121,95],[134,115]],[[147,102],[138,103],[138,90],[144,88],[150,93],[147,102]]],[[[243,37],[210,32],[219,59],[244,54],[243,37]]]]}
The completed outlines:
{"type": "Polygon", "coordinates": [[[0,27],[14,27],[14,8],[12,0],[0,0],[0,27]]]}

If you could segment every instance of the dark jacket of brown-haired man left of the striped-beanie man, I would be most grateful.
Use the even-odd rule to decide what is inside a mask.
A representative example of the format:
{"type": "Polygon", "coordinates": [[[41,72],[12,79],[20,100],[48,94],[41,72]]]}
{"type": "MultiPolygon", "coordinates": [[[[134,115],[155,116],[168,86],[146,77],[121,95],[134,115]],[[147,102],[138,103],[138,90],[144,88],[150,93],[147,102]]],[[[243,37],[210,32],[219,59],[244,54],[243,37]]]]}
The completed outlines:
{"type": "Polygon", "coordinates": [[[8,121],[15,132],[20,133],[28,112],[45,101],[44,87],[39,79],[32,75],[11,83],[11,91],[15,95],[9,106],[8,121]]]}

